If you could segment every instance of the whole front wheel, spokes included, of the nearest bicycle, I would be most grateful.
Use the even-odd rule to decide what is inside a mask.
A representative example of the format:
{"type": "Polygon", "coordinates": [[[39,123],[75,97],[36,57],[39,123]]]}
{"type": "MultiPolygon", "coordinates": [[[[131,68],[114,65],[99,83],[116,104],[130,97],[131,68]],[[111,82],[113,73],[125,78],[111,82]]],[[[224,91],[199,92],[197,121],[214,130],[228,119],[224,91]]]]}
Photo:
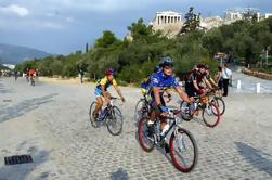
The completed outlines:
{"type": "Polygon", "coordinates": [[[190,172],[198,159],[198,150],[194,137],[185,129],[179,128],[170,138],[170,156],[177,169],[190,172]]]}

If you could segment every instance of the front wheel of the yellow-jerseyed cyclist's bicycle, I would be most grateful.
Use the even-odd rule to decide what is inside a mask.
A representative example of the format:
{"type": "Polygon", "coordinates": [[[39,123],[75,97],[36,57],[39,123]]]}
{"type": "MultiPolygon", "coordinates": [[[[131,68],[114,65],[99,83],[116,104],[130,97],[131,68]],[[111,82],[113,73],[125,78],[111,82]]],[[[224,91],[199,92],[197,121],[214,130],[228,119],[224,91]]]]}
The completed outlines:
{"type": "Polygon", "coordinates": [[[118,136],[122,130],[122,115],[118,107],[113,106],[106,117],[106,126],[109,133],[118,136]]]}

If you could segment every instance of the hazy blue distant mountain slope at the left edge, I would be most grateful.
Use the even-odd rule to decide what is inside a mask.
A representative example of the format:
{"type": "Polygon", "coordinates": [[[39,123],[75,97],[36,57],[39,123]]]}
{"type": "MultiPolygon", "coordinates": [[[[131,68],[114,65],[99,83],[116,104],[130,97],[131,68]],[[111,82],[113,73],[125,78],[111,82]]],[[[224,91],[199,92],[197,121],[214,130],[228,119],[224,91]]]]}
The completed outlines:
{"type": "Polygon", "coordinates": [[[18,64],[29,59],[41,59],[51,55],[36,49],[0,43],[0,63],[18,64]]]}

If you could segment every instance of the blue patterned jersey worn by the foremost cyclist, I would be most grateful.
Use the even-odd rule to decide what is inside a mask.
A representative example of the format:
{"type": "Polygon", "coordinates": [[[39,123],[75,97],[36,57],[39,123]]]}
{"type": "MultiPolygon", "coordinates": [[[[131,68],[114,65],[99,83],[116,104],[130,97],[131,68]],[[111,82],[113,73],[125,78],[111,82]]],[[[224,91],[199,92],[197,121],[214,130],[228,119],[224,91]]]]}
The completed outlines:
{"type": "Polygon", "coordinates": [[[151,88],[158,87],[160,89],[167,89],[170,87],[178,87],[179,82],[174,76],[166,76],[163,70],[154,73],[151,76],[151,88]]]}

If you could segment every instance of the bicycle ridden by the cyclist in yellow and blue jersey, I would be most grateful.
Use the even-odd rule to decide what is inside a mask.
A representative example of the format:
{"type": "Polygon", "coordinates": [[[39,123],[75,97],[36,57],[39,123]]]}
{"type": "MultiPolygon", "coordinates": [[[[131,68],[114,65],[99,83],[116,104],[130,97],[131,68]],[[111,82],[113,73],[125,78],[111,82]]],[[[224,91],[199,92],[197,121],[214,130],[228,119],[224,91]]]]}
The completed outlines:
{"type": "Polygon", "coordinates": [[[92,127],[98,128],[100,127],[100,124],[103,121],[106,123],[107,130],[113,136],[118,136],[122,131],[122,120],[124,117],[121,115],[120,110],[114,105],[114,102],[118,100],[118,98],[111,97],[109,103],[106,105],[106,107],[102,108],[99,112],[99,116],[96,119],[93,119],[93,111],[96,106],[96,102],[93,101],[90,105],[89,110],[89,117],[90,121],[92,124],[92,127]]]}

